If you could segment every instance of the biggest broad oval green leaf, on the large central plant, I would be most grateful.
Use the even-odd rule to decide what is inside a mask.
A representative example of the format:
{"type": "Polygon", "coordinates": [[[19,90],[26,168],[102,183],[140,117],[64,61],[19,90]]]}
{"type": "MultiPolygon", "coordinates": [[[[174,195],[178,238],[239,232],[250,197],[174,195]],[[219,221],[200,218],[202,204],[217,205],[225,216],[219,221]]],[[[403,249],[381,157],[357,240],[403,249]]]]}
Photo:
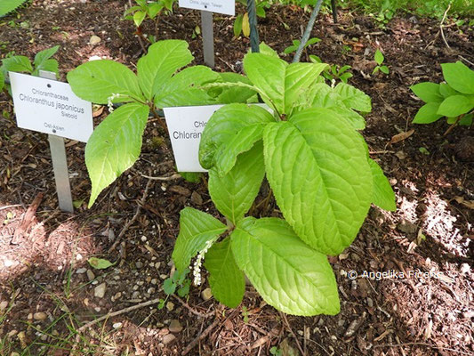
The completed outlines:
{"type": "Polygon", "coordinates": [[[337,255],[356,238],[373,196],[360,134],[333,111],[307,109],[263,133],[267,178],[309,246],[337,255]]]}

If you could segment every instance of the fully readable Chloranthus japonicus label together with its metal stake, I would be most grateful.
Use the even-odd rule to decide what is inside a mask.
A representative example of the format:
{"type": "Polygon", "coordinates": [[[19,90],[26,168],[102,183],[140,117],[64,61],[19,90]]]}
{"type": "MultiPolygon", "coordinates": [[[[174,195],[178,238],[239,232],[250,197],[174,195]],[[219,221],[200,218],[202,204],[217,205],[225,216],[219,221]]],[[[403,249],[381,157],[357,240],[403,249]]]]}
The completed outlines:
{"type": "Polygon", "coordinates": [[[60,209],[73,212],[64,137],[87,142],[93,131],[92,105],[72,93],[52,72],[40,77],[10,72],[17,125],[48,134],[60,209]]]}

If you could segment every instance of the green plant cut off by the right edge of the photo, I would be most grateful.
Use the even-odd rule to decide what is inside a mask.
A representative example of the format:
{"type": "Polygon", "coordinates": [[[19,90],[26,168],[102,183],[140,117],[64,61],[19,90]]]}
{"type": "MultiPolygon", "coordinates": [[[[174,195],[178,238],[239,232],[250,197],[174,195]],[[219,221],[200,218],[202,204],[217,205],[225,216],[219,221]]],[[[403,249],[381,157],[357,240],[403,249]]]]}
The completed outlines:
{"type": "Polygon", "coordinates": [[[414,124],[430,124],[446,117],[451,125],[472,125],[474,71],[461,61],[441,64],[441,69],[446,83],[424,82],[410,87],[425,102],[414,124]]]}

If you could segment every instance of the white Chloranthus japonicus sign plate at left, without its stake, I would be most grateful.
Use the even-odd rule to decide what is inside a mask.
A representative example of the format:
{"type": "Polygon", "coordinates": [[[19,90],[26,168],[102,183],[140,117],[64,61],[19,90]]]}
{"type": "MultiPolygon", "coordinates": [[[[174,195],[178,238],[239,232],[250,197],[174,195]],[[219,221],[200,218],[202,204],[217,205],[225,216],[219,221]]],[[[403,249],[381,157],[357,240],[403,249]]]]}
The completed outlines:
{"type": "Polygon", "coordinates": [[[93,131],[92,104],[67,83],[10,72],[12,97],[21,128],[87,142],[93,131]]]}

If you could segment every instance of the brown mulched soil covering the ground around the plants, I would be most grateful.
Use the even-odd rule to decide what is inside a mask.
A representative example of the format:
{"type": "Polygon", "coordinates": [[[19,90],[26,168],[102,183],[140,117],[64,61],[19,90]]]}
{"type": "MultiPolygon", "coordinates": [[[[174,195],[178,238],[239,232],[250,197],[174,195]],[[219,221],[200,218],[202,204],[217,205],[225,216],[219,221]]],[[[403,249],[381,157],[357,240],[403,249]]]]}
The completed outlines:
{"type": "MultiPolygon", "coordinates": [[[[125,4],[34,1],[18,17],[0,21],[0,57],[14,51],[33,58],[60,44],[56,58],[62,78],[92,55],[133,67],[142,50],[133,24],[121,20],[125,4]],[[92,35],[100,36],[100,44],[88,44],[92,35]]],[[[308,18],[300,8],[273,7],[259,25],[261,40],[282,53],[291,39],[301,36],[308,18]]],[[[214,20],[216,70],[240,71],[248,40],[232,37],[229,17],[214,15],[214,20]]],[[[198,12],[176,10],[159,20],[155,35],[189,41],[196,62],[202,63],[201,38],[193,38],[198,25],[198,12]]],[[[350,83],[373,99],[363,134],[398,200],[395,213],[373,207],[358,239],[331,259],[341,292],[341,313],[335,317],[283,316],[252,287],[241,306],[225,309],[213,299],[203,300],[205,283],[191,287],[186,301],[172,296],[163,309],[157,304],[142,307],[76,336],[71,329],[107,312],[165,299],[162,285],[173,271],[170,259],[181,208],[215,210],[205,184],[182,179],[150,182],[141,201],[148,182],[141,174],[174,173],[169,142],[151,122],[139,162],[92,209],[82,204],[75,214],[61,213],[45,135],[17,128],[12,102],[0,95],[0,354],[181,354],[208,330],[188,354],[269,355],[276,345],[290,355],[290,348],[299,352],[299,344],[307,355],[473,355],[474,165],[472,156],[463,153],[473,151],[474,134],[469,127],[456,127],[443,136],[448,127],[443,121],[411,124],[421,103],[409,86],[441,80],[440,63],[461,56],[474,61],[472,28],[449,20],[446,25],[451,49],[435,20],[398,17],[379,28],[373,19],[352,12],[341,12],[338,25],[323,14],[312,34],[322,41],[303,56],[306,60],[314,53],[325,62],[352,66],[350,83]],[[378,47],[390,67],[388,76],[371,74],[378,47]],[[389,144],[394,135],[410,129],[414,134],[409,138],[389,144]],[[38,193],[44,198],[13,245],[38,193]],[[108,252],[138,206],[137,219],[108,252]],[[88,277],[86,260],[92,255],[118,263],[88,277]],[[359,278],[349,279],[349,271],[359,278]],[[391,277],[369,279],[364,271],[387,271],[391,277]],[[409,277],[400,278],[402,272],[409,277]],[[102,283],[105,296],[94,296],[102,283]],[[170,326],[172,320],[179,320],[183,329],[170,326]]],[[[144,32],[153,34],[154,24],[144,32]]],[[[87,200],[84,144],[67,142],[67,147],[73,197],[87,200]]]]}

